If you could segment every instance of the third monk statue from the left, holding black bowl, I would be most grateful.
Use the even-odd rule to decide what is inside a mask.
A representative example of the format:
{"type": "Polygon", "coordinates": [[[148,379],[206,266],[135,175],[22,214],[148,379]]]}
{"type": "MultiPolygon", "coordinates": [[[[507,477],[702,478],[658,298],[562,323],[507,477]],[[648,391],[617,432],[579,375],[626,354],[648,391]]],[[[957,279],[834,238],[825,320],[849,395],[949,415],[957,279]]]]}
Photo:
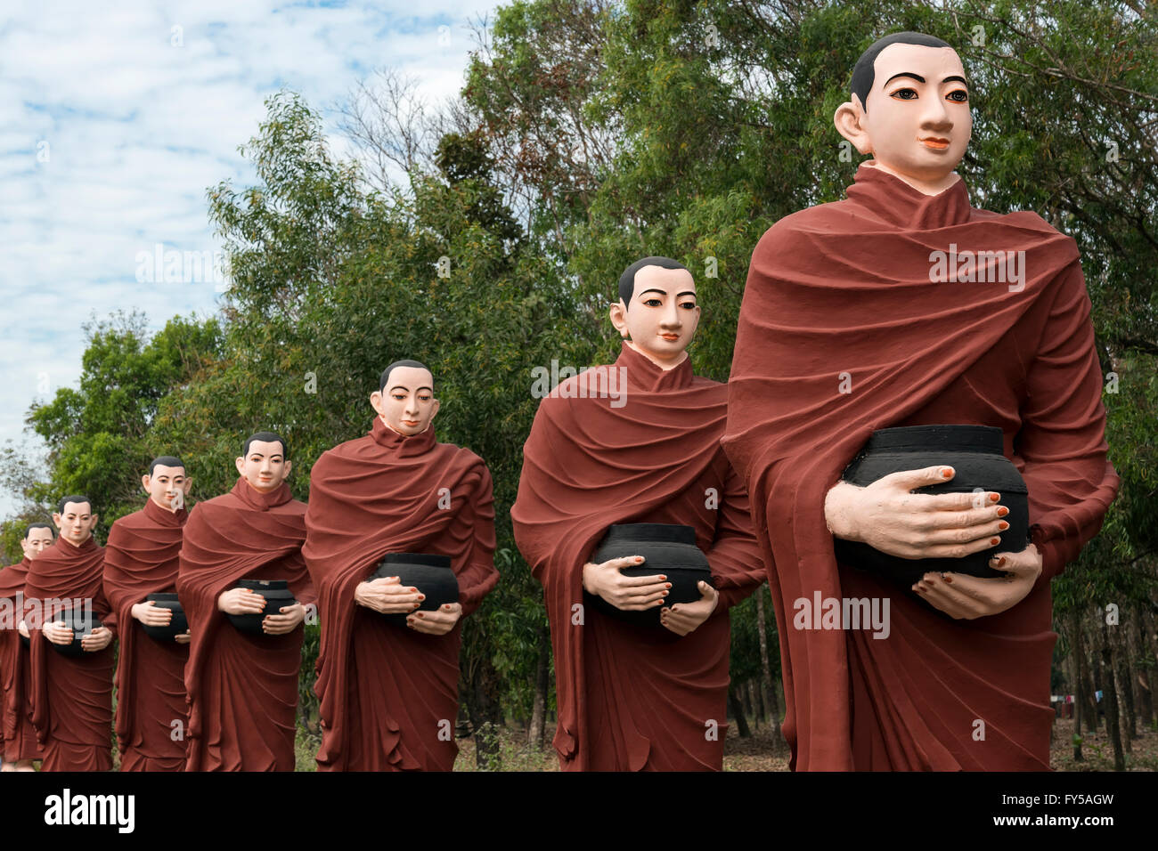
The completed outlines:
{"type": "Polygon", "coordinates": [[[141,476],[145,507],[116,520],[104,545],[104,593],[117,611],[117,747],[122,771],[185,768],[185,662],[189,630],[153,638],[146,626],[168,626],[173,610],[147,600],[174,593],[181,533],[189,518],[192,479],[181,458],[162,455],[141,476]]]}

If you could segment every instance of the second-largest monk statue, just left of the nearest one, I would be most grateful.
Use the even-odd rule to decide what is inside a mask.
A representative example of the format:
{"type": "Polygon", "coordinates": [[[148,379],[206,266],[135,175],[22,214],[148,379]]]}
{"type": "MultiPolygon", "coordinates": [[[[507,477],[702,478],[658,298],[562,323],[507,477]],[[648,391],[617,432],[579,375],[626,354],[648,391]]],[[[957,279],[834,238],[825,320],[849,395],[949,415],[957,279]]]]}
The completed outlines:
{"type": "Polygon", "coordinates": [[[748,497],[720,448],[727,387],[692,374],[691,272],[631,264],[611,324],[614,365],[579,372],[538,405],[511,518],[543,584],[555,652],[563,770],[720,770],[727,729],[728,609],[763,581],[748,497]],[[615,524],[690,527],[711,581],[667,606],[672,582],[626,553],[592,556],[615,524]],[[703,558],[703,555],[701,555],[703,558]],[[601,599],[608,611],[589,604],[601,599]],[[657,611],[651,623],[615,610],[657,611]]]}

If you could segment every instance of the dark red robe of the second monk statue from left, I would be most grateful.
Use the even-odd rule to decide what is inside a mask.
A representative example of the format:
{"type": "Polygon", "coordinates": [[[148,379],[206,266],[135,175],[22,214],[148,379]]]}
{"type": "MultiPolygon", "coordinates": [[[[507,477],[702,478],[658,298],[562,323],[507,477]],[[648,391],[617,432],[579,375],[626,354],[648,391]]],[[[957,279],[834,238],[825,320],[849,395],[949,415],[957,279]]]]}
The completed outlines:
{"type": "Polygon", "coordinates": [[[104,548],[91,536],[74,546],[58,537],[28,568],[24,619],[31,637],[32,724],[44,753],[42,771],[109,771],[112,768],[113,647],[96,653],[61,655],[41,630],[72,601],[91,611],[117,633],[117,617],[104,597],[104,548]],[[35,614],[34,614],[35,612],[35,614]],[[42,617],[43,612],[43,617],[42,617]],[[34,626],[35,623],[35,626],[34,626]]]}

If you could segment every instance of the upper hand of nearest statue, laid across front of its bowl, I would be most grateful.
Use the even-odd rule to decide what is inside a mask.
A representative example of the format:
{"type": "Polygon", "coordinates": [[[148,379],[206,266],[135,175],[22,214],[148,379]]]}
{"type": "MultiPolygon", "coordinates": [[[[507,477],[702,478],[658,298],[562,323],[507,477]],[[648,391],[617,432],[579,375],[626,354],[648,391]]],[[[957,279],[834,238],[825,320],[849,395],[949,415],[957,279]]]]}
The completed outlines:
{"type": "Polygon", "coordinates": [[[824,499],[824,520],[836,537],[900,558],[961,558],[996,546],[1010,526],[999,493],[910,493],[954,475],[951,467],[926,467],[866,487],[838,482],[824,499]]]}

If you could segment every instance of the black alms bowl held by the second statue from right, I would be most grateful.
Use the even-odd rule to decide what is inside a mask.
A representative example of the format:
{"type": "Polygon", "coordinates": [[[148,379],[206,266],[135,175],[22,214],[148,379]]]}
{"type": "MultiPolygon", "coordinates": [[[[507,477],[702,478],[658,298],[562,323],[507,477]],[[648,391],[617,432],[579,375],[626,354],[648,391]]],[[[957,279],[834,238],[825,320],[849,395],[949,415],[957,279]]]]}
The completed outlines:
{"type": "Polygon", "coordinates": [[[628,623],[659,626],[659,610],[676,603],[694,603],[702,596],[698,582],[712,582],[708,556],[696,545],[696,530],[675,523],[615,523],[607,530],[595,552],[588,559],[602,564],[613,558],[643,556],[637,567],[621,567],[626,577],[650,577],[662,573],[672,584],[662,606],[643,611],[629,611],[611,606],[596,594],[584,592],[588,606],[626,621],[628,623]]]}

